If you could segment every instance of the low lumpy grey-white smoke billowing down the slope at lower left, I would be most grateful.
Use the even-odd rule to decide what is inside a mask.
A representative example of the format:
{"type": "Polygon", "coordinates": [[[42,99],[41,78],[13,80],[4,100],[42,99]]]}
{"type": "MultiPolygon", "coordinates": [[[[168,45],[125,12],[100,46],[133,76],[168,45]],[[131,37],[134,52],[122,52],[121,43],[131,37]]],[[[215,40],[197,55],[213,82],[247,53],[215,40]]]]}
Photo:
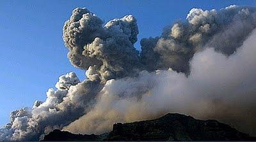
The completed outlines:
{"type": "Polygon", "coordinates": [[[84,114],[95,94],[99,82],[80,82],[75,73],[60,76],[56,89],[47,91],[45,102],[35,101],[33,108],[13,111],[10,123],[0,129],[1,141],[38,140],[52,129],[61,129],[84,114]]]}

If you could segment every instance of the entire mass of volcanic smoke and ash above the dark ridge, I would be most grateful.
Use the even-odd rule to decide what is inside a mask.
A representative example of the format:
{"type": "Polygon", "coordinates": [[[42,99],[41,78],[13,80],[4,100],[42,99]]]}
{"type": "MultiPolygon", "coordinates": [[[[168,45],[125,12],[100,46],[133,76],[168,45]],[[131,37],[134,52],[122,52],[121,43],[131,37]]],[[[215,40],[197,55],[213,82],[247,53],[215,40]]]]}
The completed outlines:
{"type": "Polygon", "coordinates": [[[103,25],[76,8],[63,27],[70,62],[86,70],[60,76],[32,108],[13,111],[0,141],[38,140],[52,129],[101,133],[115,122],[178,112],[216,118],[256,134],[256,9],[193,8],[184,22],[141,39],[132,15],[103,25]]]}

